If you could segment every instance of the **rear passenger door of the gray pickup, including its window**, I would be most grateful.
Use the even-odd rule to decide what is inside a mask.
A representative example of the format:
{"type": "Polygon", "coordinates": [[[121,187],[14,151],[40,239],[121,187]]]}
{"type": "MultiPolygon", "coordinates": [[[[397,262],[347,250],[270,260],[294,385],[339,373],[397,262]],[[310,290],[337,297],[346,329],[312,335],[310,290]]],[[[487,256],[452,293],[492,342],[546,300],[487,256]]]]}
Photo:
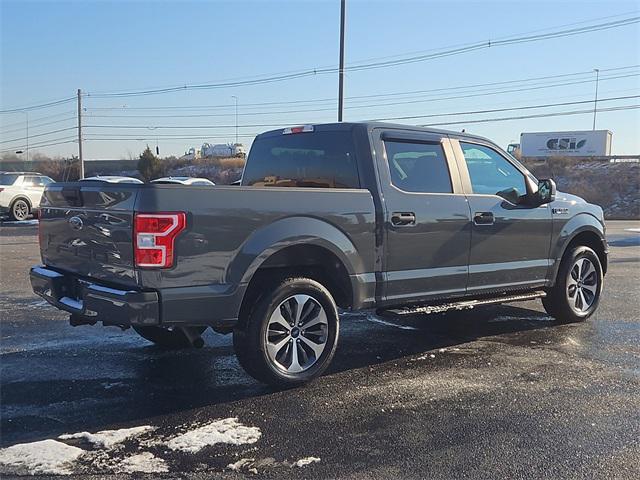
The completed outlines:
{"type": "Polygon", "coordinates": [[[470,211],[449,139],[374,129],[384,199],[383,302],[464,295],[470,211]]]}

